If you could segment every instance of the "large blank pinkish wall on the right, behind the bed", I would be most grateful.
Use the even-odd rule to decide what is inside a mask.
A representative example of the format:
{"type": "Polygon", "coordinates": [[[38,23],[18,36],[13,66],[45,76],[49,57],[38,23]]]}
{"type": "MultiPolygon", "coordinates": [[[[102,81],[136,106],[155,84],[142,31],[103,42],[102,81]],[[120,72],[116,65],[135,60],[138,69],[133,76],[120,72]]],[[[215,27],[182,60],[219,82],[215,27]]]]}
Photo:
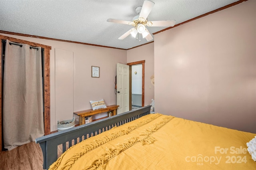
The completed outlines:
{"type": "Polygon", "coordinates": [[[256,1],[154,36],[162,114],[256,133],[256,1]]]}

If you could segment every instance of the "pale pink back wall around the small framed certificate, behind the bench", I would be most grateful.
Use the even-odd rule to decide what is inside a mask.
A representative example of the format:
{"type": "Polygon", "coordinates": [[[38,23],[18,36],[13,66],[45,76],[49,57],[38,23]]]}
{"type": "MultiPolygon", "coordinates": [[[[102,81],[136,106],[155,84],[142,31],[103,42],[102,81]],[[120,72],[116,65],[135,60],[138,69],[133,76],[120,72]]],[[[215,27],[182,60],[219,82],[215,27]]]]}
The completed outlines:
{"type": "MultiPolygon", "coordinates": [[[[90,100],[104,99],[107,105],[116,104],[116,95],[114,93],[116,63],[127,63],[126,50],[96,47],[77,43],[58,42],[8,34],[1,35],[52,46],[52,50],[50,50],[51,131],[57,130],[57,121],[63,121],[60,120],[61,117],[70,117],[70,119],[73,117],[73,113],[55,112],[55,89],[59,88],[55,87],[55,48],[73,52],[74,88],[73,96],[70,97],[74,97],[74,100],[72,105],[70,103],[63,103],[63,105],[70,105],[74,107],[73,110],[75,112],[91,109],[89,102],[90,100]],[[100,78],[91,77],[92,65],[100,67],[100,78]]],[[[106,115],[98,116],[103,117],[106,115]]]]}

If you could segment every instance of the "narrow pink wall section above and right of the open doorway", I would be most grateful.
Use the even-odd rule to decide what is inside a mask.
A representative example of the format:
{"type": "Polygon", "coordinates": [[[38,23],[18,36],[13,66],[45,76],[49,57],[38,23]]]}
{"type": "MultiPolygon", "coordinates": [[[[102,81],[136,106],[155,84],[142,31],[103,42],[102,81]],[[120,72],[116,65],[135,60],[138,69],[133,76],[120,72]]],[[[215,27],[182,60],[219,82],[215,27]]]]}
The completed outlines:
{"type": "Polygon", "coordinates": [[[127,50],[127,63],[142,60],[145,60],[144,105],[146,106],[150,105],[151,99],[154,99],[154,86],[150,79],[154,75],[154,43],[127,50]]]}

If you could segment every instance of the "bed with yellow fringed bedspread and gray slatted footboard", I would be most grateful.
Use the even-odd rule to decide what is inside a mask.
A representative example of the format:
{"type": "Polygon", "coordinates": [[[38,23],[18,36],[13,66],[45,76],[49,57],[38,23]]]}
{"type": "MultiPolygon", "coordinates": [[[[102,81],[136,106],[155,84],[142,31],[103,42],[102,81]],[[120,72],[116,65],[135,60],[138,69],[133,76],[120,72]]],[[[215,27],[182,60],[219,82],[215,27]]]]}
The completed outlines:
{"type": "Polygon", "coordinates": [[[44,169],[256,169],[256,134],[159,113],[150,106],[36,139],[44,169]],[[57,155],[58,145],[63,154],[57,155]],[[67,149],[68,148],[68,149],[67,149]]]}

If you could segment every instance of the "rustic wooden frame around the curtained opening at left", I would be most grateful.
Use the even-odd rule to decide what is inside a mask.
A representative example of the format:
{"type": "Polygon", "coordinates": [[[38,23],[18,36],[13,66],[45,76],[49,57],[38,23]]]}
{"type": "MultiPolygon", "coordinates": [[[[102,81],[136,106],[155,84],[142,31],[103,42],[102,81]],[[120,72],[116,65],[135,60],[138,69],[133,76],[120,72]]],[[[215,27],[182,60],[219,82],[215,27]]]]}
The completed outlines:
{"type": "MultiPolygon", "coordinates": [[[[0,151],[2,150],[2,40],[44,48],[44,135],[50,134],[50,50],[51,46],[0,35],[0,151]]],[[[43,56],[42,56],[43,57],[43,56]]],[[[11,122],[10,122],[11,123],[11,122]]]]}

